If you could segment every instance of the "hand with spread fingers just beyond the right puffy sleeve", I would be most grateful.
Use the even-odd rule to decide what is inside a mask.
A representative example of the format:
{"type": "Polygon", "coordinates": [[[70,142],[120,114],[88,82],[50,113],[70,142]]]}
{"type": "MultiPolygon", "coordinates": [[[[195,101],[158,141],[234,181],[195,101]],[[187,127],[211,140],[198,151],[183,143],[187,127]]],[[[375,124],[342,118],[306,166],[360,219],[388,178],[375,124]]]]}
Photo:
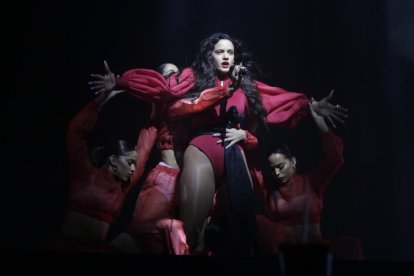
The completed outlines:
{"type": "Polygon", "coordinates": [[[330,100],[333,97],[334,90],[332,89],[329,95],[320,101],[311,100],[311,106],[316,114],[327,119],[333,127],[336,127],[335,122],[345,123],[348,118],[348,109],[340,106],[339,104],[333,105],[330,100]]]}

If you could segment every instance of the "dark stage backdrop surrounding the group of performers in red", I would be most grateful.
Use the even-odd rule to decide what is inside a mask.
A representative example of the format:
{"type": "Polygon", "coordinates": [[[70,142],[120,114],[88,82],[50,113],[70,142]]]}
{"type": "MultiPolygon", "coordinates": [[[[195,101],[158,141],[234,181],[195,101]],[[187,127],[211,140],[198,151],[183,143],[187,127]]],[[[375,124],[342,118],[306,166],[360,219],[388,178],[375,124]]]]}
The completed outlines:
{"type": "MultiPolygon", "coordinates": [[[[13,190],[6,249],[42,250],[63,221],[64,133],[94,97],[90,73],[103,73],[104,59],[116,74],[166,61],[186,66],[201,39],[222,31],[245,42],[260,80],[316,99],[334,88],[333,101],[349,108],[335,130],[345,165],[325,193],[325,236],[358,237],[367,260],[414,260],[413,1],[33,1],[12,12],[7,24],[17,31],[4,55],[13,53],[14,74],[2,116],[3,163],[12,164],[3,185],[13,190]]],[[[148,110],[115,98],[102,131],[133,139],[148,110]]],[[[304,121],[290,134],[304,139],[300,160],[313,166],[312,128],[304,121]]]]}

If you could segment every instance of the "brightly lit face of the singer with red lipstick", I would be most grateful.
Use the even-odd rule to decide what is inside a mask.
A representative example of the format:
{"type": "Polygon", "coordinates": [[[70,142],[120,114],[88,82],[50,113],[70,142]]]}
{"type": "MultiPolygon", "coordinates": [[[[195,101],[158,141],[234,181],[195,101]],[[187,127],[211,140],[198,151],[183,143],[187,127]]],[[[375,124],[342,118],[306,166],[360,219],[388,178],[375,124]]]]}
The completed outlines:
{"type": "Polygon", "coordinates": [[[230,40],[220,39],[213,49],[214,65],[221,74],[227,74],[234,63],[234,45],[230,40]]]}

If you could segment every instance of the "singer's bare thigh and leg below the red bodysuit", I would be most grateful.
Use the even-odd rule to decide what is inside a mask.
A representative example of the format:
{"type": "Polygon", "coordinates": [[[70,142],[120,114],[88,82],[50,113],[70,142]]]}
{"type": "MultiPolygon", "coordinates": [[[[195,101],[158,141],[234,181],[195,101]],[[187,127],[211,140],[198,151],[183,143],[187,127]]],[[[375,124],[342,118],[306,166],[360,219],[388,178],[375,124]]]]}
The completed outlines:
{"type": "Polygon", "coordinates": [[[184,222],[187,243],[194,250],[198,233],[213,203],[214,171],[208,157],[190,145],[184,153],[184,166],[179,180],[180,220],[184,222]]]}

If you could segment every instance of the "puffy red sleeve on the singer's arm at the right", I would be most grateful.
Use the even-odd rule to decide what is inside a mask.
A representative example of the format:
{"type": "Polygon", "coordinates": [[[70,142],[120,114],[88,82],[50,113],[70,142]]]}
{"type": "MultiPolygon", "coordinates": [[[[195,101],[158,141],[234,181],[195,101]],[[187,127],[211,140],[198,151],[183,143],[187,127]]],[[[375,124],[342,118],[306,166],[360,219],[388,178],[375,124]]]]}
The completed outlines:
{"type": "Polygon", "coordinates": [[[292,128],[308,114],[309,100],[302,93],[290,92],[280,87],[269,86],[257,82],[263,107],[266,110],[266,120],[270,124],[292,128]]]}

